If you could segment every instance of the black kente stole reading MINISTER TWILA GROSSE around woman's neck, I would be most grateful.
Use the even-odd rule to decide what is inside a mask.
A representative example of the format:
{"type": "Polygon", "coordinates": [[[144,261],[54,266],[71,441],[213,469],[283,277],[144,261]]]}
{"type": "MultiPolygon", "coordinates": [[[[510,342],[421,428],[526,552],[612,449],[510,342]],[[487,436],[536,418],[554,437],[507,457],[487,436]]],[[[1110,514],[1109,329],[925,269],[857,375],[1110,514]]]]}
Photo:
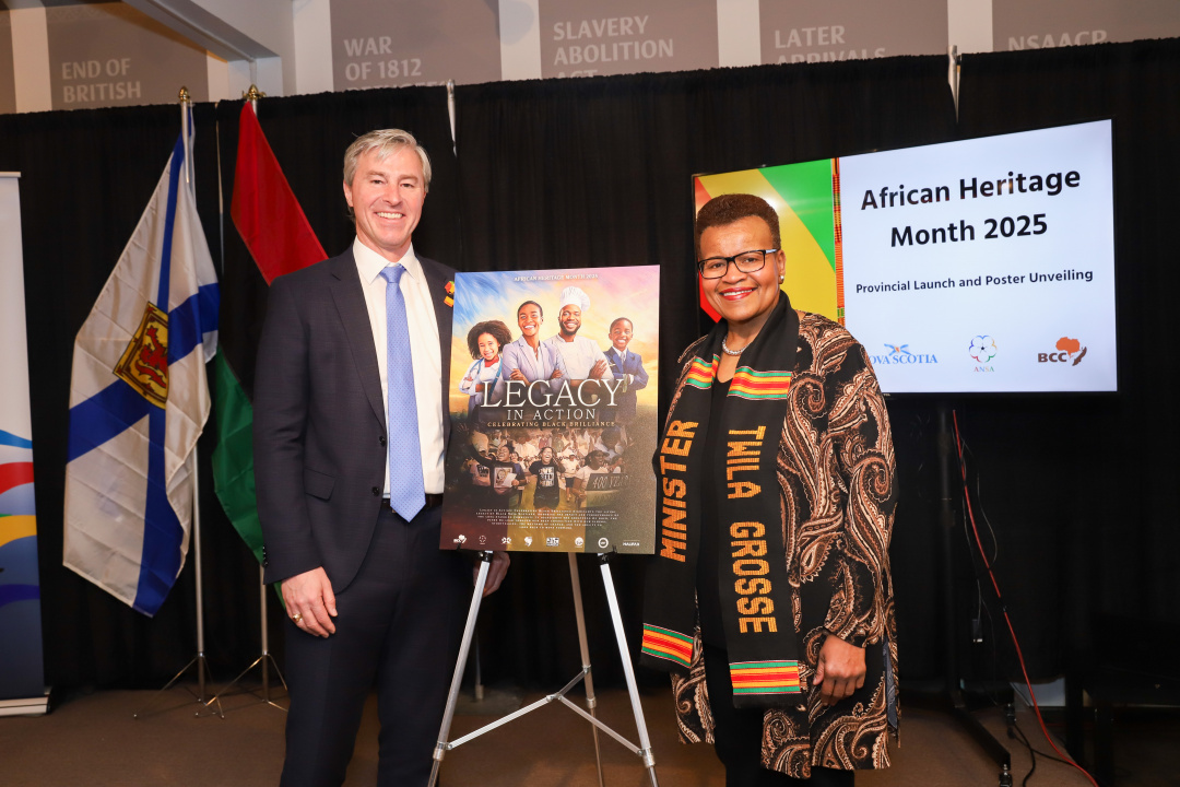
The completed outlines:
{"type": "Polygon", "coordinates": [[[799,644],[791,612],[776,459],[799,343],[799,315],[786,295],[738,361],[717,432],[706,457],[713,381],[725,321],[693,348],[680,399],[668,414],[653,464],[660,478],[656,559],[647,573],[641,662],[687,670],[696,628],[701,490],[716,510],[721,617],[734,706],[794,702],[799,644]]]}

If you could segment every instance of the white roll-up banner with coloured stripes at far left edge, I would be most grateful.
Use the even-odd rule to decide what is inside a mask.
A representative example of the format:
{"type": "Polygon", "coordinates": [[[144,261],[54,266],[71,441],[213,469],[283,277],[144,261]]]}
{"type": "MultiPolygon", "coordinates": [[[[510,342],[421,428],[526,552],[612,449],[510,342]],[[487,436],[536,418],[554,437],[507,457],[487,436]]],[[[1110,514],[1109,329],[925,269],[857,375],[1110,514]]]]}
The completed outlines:
{"type": "Polygon", "coordinates": [[[0,716],[46,709],[19,183],[0,172],[0,716]]]}

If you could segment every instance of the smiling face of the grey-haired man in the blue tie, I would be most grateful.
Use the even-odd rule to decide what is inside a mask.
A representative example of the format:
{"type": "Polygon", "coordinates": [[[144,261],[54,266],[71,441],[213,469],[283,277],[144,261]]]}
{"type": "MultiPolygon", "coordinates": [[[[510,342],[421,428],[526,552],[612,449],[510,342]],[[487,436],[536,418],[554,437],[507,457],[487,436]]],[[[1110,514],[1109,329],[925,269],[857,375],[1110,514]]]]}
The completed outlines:
{"type": "Polygon", "coordinates": [[[353,182],[345,184],[345,199],[356,216],[356,236],[389,262],[409,250],[411,236],[422,216],[426,177],[412,147],[378,158],[371,150],[356,162],[353,182]]]}

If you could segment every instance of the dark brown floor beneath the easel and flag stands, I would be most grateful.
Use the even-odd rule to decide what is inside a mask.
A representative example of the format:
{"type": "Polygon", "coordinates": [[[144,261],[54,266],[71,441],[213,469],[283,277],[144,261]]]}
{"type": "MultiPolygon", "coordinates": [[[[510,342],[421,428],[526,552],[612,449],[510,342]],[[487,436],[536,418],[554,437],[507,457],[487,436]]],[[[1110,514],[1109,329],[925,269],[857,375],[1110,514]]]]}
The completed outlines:
{"type": "MultiPolygon", "coordinates": [[[[539,696],[527,695],[523,700],[532,702],[539,696]]],[[[570,697],[578,702],[577,689],[570,697]]],[[[510,691],[493,691],[483,706],[465,701],[455,716],[452,740],[499,717],[518,706],[519,700],[510,691]],[[493,713],[484,715],[485,710],[493,713]]],[[[721,787],[725,783],[710,747],[675,741],[669,691],[644,694],[642,707],[661,785],[721,787]]],[[[0,785],[261,787],[277,783],[283,755],[282,710],[250,695],[229,697],[224,719],[208,711],[198,715],[201,708],[186,689],[177,688],[159,697],[149,691],[104,691],[63,702],[48,716],[0,717],[0,785]],[[151,704],[146,713],[139,720],[132,719],[148,703],[151,704]]],[[[624,691],[599,693],[598,717],[628,740],[638,741],[624,691]]],[[[1005,735],[1002,713],[981,711],[979,719],[1011,750],[1014,783],[1020,785],[1029,768],[1027,750],[1005,735]]],[[[1031,713],[1022,707],[1017,719],[1034,746],[1048,752],[1031,713]]],[[[997,768],[948,716],[909,708],[902,724],[902,746],[891,747],[893,767],[859,774],[857,782],[861,787],[998,783],[997,768]]],[[[1060,727],[1053,732],[1060,733],[1060,727]]],[[[605,734],[599,737],[607,785],[648,783],[635,755],[605,734]]],[[[1180,721],[1175,714],[1125,714],[1116,721],[1116,740],[1119,787],[1180,785],[1173,765],[1180,743],[1180,721]]],[[[374,783],[375,741],[376,714],[371,702],[349,769],[349,787],[374,783]]],[[[448,787],[595,787],[598,782],[590,724],[569,708],[548,704],[448,753],[442,776],[448,787]]],[[[1028,783],[1083,787],[1089,782],[1070,766],[1038,758],[1028,783]]]]}

